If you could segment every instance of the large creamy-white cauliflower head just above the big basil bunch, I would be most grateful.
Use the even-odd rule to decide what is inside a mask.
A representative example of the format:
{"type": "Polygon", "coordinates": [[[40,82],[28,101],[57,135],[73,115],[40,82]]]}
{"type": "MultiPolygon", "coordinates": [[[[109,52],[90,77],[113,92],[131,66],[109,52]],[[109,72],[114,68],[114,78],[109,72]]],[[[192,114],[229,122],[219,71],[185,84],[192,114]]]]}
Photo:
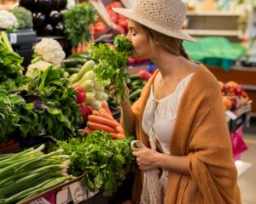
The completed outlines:
{"type": "Polygon", "coordinates": [[[39,55],[53,65],[60,65],[61,61],[65,58],[65,53],[61,48],[59,42],[52,38],[44,37],[34,48],[36,55],[39,55]]]}

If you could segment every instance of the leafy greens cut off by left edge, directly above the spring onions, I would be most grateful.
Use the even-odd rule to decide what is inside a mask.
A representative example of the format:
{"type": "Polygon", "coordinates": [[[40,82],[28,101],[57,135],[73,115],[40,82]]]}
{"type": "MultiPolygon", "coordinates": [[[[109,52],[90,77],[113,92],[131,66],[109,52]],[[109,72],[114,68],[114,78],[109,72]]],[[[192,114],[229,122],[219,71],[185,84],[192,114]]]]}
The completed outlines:
{"type": "Polygon", "coordinates": [[[6,144],[20,121],[19,106],[25,105],[22,97],[0,89],[0,143],[6,144]]]}

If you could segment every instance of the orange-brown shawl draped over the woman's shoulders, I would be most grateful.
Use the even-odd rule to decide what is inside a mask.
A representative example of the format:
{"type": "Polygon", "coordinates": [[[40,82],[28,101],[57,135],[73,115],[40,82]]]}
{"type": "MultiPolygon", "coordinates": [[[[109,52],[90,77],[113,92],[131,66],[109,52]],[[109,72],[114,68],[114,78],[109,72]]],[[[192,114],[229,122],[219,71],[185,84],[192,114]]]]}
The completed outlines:
{"type": "MultiPolygon", "coordinates": [[[[156,74],[143,88],[140,99],[132,105],[137,139],[147,146],[148,136],[143,132],[142,119],[156,74]]],[[[199,65],[180,101],[172,133],[171,155],[189,156],[190,176],[169,172],[166,203],[241,203],[218,81],[204,65],[199,65]]],[[[142,178],[142,172],[137,168],[132,192],[135,203],[140,201],[142,178]]]]}

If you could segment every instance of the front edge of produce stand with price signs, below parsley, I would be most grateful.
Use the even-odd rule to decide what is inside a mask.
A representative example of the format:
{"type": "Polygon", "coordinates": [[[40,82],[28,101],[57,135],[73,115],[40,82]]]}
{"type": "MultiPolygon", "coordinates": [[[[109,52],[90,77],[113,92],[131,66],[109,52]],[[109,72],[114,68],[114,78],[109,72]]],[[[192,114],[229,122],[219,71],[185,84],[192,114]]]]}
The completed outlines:
{"type": "Polygon", "coordinates": [[[123,201],[131,199],[133,176],[128,176],[112,196],[104,196],[102,192],[90,192],[81,184],[83,178],[84,175],[81,175],[78,178],[55,186],[19,204],[120,204],[123,201]]]}

